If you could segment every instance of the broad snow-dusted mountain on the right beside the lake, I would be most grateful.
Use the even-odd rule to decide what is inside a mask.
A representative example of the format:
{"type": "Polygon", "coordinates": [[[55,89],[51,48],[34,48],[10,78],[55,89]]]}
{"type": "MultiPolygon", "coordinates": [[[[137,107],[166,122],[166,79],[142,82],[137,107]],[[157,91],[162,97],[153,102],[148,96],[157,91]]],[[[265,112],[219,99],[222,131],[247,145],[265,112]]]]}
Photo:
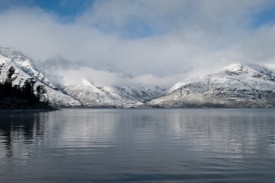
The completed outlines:
{"type": "Polygon", "coordinates": [[[232,64],[192,83],[177,83],[154,107],[275,107],[275,72],[232,64]]]}

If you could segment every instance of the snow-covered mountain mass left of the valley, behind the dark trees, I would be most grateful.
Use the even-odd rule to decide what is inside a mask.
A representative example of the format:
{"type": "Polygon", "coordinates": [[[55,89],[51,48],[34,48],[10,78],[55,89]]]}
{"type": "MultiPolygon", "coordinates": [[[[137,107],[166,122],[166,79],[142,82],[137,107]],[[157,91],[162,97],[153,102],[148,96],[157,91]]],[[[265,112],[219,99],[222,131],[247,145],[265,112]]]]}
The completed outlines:
{"type": "Polygon", "coordinates": [[[5,79],[8,69],[16,69],[14,84],[23,84],[28,78],[37,80],[36,85],[45,85],[45,98],[54,106],[85,107],[131,107],[144,106],[143,103],[166,94],[166,87],[157,85],[136,85],[130,74],[115,66],[105,70],[80,67],[61,58],[36,62],[19,50],[0,47],[0,65],[3,65],[0,78],[5,79]],[[86,74],[83,74],[86,73],[86,74]],[[102,85],[95,82],[96,75],[105,80],[126,80],[125,85],[102,85]],[[99,75],[99,76],[98,76],[99,75]]]}

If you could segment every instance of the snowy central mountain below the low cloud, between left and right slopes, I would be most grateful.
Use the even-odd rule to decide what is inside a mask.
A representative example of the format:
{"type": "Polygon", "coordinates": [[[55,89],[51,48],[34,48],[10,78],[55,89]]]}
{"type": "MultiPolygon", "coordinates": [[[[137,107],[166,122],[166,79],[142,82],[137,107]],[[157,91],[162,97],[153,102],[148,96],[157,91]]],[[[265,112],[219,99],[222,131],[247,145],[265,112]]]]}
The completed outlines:
{"type": "Polygon", "coordinates": [[[96,86],[86,78],[78,82],[63,83],[66,94],[76,98],[87,107],[124,107],[153,100],[166,93],[164,87],[157,86],[96,86]]]}

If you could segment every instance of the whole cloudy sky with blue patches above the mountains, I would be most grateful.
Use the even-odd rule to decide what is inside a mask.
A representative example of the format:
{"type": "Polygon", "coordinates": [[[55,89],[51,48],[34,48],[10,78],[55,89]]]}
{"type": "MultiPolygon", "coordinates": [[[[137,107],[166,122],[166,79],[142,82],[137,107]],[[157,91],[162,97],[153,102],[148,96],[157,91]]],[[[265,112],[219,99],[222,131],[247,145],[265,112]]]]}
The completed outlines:
{"type": "Polygon", "coordinates": [[[275,67],[273,0],[0,0],[0,27],[1,46],[32,58],[112,63],[133,76],[275,67]]]}

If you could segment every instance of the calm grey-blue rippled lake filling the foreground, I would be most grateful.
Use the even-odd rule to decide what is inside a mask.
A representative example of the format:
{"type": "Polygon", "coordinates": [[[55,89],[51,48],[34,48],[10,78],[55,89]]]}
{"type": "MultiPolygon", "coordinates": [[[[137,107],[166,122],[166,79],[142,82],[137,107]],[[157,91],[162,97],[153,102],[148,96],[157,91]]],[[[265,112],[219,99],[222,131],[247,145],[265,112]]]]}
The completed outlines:
{"type": "Polygon", "coordinates": [[[2,113],[0,182],[275,182],[275,110],[2,113]]]}

